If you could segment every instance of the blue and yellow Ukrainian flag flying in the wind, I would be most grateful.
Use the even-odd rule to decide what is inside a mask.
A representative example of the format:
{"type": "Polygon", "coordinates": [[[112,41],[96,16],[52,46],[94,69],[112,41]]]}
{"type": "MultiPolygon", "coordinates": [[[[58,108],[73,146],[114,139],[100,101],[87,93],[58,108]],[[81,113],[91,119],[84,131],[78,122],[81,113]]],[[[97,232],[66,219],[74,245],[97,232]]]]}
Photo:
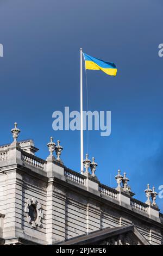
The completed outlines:
{"type": "Polygon", "coordinates": [[[116,76],[117,68],[114,63],[91,57],[84,52],[83,55],[85,59],[85,69],[102,70],[107,75],[116,76]]]}

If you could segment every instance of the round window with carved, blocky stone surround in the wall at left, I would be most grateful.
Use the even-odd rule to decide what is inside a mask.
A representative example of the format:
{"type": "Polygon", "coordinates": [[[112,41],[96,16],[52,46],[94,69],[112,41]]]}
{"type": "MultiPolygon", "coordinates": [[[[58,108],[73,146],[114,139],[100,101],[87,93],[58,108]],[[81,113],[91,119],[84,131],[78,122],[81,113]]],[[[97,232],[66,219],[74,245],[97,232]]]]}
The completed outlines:
{"type": "Polygon", "coordinates": [[[34,198],[28,199],[25,207],[25,212],[27,214],[28,223],[31,223],[32,227],[34,228],[36,226],[40,227],[41,220],[43,218],[41,204],[37,202],[37,200],[35,200],[34,198]]]}

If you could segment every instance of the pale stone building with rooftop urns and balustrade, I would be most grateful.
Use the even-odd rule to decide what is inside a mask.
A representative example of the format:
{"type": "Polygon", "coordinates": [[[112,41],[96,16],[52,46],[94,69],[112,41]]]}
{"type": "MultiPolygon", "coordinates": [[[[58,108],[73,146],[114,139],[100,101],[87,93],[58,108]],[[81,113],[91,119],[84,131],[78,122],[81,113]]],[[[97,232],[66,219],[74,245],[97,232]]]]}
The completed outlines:
{"type": "Polygon", "coordinates": [[[116,188],[105,186],[95,159],[86,155],[85,172],[74,172],[60,159],[60,141],[51,137],[43,160],[32,140],[17,141],[16,123],[11,132],[14,142],[0,147],[1,245],[163,244],[154,188],[148,185],[147,202],[140,202],[126,173],[118,170],[116,188]]]}

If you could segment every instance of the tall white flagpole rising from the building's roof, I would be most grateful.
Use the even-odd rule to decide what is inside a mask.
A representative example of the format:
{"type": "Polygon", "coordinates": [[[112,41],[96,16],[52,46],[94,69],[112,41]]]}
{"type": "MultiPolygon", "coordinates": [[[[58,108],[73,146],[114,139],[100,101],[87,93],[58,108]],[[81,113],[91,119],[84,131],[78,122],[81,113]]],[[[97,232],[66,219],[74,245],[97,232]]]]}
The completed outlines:
{"type": "Polygon", "coordinates": [[[83,56],[80,48],[80,170],[83,174],[83,56]]]}

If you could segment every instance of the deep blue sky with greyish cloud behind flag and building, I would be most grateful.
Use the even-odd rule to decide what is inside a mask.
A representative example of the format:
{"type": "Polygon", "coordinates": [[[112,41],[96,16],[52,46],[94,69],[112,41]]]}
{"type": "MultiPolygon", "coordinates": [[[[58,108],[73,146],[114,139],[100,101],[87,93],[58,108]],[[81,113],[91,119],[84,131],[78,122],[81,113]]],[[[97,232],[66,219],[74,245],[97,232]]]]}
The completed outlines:
{"type": "MultiPolygon", "coordinates": [[[[111,111],[111,135],[89,132],[97,176],[115,187],[117,169],[127,172],[136,198],[147,183],[163,185],[163,43],[161,0],[1,0],[1,144],[33,138],[37,156],[48,156],[49,137],[60,139],[62,160],[80,169],[80,132],[53,131],[52,113],[80,110],[79,48],[114,62],[116,77],[87,71],[89,109],[111,111]]],[[[84,79],[84,110],[86,110],[84,79]]],[[[87,151],[84,133],[84,154],[87,151]]],[[[163,211],[163,199],[157,203],[163,211]]]]}

